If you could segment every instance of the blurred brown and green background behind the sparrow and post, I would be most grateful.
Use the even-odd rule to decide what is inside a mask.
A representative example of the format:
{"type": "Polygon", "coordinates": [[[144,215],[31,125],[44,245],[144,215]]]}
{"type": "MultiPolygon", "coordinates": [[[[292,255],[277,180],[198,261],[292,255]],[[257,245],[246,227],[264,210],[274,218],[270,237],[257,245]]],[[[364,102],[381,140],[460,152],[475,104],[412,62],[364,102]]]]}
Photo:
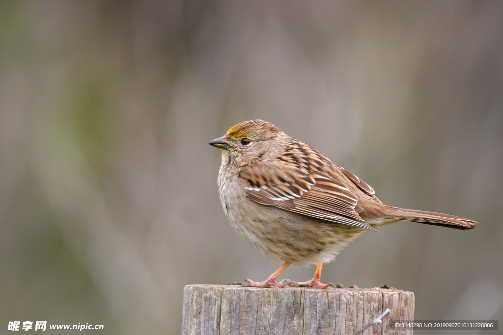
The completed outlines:
{"type": "Polygon", "coordinates": [[[500,1],[1,2],[0,327],[179,334],[185,285],[266,279],[280,264],[228,224],[207,145],[257,118],[387,204],[480,222],[367,232],[323,282],[501,321],[502,18],[500,1]]]}

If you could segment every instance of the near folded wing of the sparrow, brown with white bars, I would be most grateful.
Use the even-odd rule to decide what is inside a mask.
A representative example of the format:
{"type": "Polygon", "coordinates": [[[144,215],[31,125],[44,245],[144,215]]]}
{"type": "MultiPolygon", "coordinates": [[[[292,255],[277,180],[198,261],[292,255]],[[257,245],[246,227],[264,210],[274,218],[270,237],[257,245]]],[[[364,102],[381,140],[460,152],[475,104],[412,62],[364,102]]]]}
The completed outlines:
{"type": "Polygon", "coordinates": [[[323,173],[268,162],[243,167],[239,177],[247,196],[258,203],[374,230],[355,211],[356,195],[323,173]]]}

